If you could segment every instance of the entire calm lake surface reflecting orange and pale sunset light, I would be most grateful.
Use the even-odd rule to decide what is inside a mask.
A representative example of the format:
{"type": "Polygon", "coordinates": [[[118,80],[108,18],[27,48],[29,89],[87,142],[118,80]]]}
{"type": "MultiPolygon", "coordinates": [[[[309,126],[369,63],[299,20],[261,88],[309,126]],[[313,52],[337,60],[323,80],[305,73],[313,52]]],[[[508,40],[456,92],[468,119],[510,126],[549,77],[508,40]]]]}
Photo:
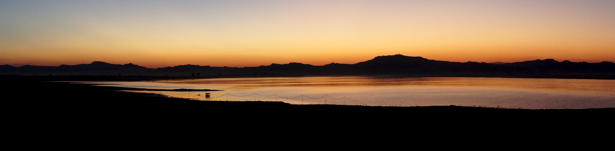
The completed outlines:
{"type": "Polygon", "coordinates": [[[210,93],[212,98],[209,100],[277,100],[293,104],[461,105],[524,109],[615,108],[615,80],[603,79],[310,76],[100,82],[100,84],[121,84],[114,86],[149,89],[222,90],[134,91],[199,100],[207,100],[204,95],[210,93]],[[324,95],[327,96],[323,97],[324,95]]]}

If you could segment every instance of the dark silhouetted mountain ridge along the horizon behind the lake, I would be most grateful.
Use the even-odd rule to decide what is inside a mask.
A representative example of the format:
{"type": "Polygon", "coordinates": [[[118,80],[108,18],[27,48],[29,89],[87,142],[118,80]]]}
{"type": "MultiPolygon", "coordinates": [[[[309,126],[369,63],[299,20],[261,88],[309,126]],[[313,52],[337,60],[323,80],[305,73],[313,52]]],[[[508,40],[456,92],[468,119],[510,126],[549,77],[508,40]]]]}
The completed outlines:
{"type": "MultiPolygon", "coordinates": [[[[411,76],[486,76],[486,77],[535,77],[548,75],[598,75],[615,79],[613,62],[558,62],[554,59],[524,62],[449,62],[424,57],[377,56],[357,64],[309,65],[298,62],[261,65],[260,67],[210,67],[208,65],[177,65],[175,67],[146,68],[135,64],[108,64],[95,61],[91,64],[60,65],[58,67],[0,65],[0,75],[112,75],[112,76],[219,76],[219,75],[280,75],[280,76],[339,76],[339,75],[411,75],[411,76]],[[193,75],[194,74],[194,75],[193,75]]],[[[547,78],[548,78],[547,77],[547,78]]],[[[591,77],[590,77],[591,78],[591,77]]]]}

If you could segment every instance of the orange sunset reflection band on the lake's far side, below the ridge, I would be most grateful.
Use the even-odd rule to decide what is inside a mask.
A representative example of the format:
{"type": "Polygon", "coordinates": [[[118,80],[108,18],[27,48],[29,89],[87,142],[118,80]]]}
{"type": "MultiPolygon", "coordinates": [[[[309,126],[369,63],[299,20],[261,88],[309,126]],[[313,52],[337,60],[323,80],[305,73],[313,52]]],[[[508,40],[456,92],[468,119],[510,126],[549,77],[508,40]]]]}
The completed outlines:
{"type": "MultiPolygon", "coordinates": [[[[280,86],[460,86],[515,89],[615,92],[615,80],[535,78],[452,78],[399,76],[309,76],[293,78],[219,78],[157,81],[169,84],[205,84],[226,89],[256,89],[280,86]]],[[[149,83],[146,83],[149,84],[149,83]]],[[[339,87],[346,89],[346,87],[339,87]]]]}

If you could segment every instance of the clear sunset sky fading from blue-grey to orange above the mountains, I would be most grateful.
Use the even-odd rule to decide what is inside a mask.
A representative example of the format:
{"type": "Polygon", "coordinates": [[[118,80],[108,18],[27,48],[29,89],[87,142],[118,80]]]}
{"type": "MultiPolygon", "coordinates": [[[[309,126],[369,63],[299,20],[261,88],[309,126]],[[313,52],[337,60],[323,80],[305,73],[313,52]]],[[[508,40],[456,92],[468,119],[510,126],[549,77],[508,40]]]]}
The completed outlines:
{"type": "Polygon", "coordinates": [[[615,1],[5,1],[0,64],[615,62],[615,1]]]}

